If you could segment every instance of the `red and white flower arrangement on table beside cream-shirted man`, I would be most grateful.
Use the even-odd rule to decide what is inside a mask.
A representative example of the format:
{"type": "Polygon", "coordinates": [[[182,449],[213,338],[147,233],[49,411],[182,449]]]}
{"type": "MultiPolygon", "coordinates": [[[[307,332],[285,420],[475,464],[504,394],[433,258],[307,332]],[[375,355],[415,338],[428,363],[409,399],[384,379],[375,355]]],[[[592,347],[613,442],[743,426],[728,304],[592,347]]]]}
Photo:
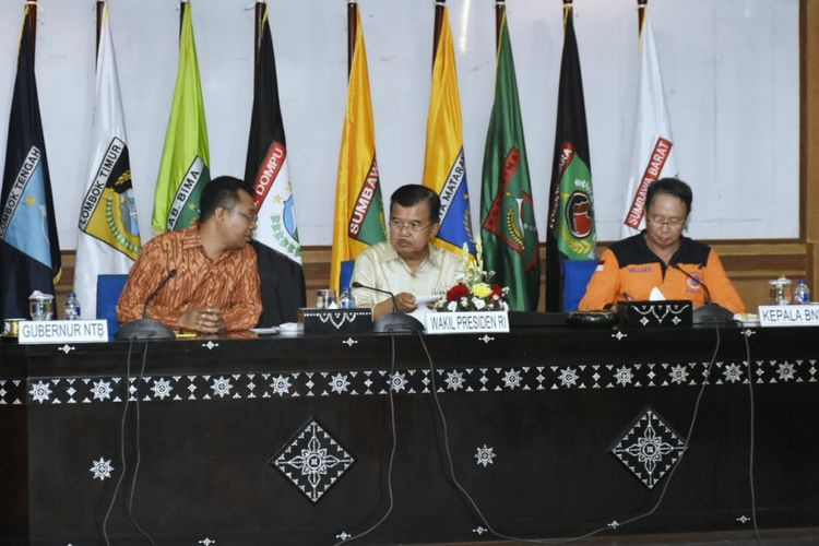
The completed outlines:
{"type": "Polygon", "coordinates": [[[500,287],[492,283],[495,272],[484,271],[484,252],[480,240],[475,241],[476,257],[472,260],[470,250],[464,244],[461,249],[463,257],[463,277],[447,292],[447,296],[439,299],[432,307],[436,311],[506,311],[509,306],[506,296],[508,287],[500,287]]]}

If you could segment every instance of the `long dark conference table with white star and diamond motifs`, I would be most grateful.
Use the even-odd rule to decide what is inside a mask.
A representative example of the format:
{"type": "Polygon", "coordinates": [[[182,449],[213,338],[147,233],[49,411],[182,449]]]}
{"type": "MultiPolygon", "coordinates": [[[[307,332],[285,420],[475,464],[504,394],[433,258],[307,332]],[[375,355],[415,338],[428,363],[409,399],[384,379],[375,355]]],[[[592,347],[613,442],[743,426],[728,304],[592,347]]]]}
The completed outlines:
{"type": "Polygon", "coordinates": [[[818,359],[812,328],[5,341],[0,543],[817,526],[818,359]]]}

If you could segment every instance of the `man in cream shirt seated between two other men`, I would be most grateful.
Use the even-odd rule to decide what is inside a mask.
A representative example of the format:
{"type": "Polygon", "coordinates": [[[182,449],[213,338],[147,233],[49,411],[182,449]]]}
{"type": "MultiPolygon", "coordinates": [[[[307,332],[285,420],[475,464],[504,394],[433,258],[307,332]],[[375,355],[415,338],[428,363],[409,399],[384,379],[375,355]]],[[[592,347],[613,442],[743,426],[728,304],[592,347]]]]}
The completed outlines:
{"type": "MultiPolygon", "coordinates": [[[[418,185],[402,186],[390,198],[390,239],[371,246],[356,259],[353,283],[395,294],[400,312],[417,309],[417,296],[440,294],[463,274],[460,257],[429,241],[440,228],[438,194],[418,185]]],[[[372,309],[377,320],[392,312],[390,296],[354,288],[357,307],[372,309]]]]}

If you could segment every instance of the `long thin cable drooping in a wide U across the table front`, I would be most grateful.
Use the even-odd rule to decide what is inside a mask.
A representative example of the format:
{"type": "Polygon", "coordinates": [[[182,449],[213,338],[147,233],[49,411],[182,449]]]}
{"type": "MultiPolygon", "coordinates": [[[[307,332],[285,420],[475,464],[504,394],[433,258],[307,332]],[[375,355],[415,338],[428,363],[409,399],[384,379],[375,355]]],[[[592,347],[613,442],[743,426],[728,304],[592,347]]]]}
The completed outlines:
{"type": "MultiPolygon", "coordinates": [[[[617,520],[614,520],[612,523],[608,523],[606,526],[598,527],[596,530],[593,530],[584,535],[570,537],[570,538],[523,538],[518,536],[511,536],[511,535],[505,535],[503,533],[500,533],[496,531],[488,522],[484,513],[478,508],[477,502],[475,499],[472,498],[472,496],[466,491],[466,489],[461,485],[461,483],[455,477],[455,468],[454,463],[452,462],[452,451],[450,450],[449,446],[449,431],[447,427],[447,418],[443,415],[443,408],[441,407],[440,400],[438,400],[438,388],[436,387],[435,382],[435,364],[432,363],[432,356],[429,354],[429,348],[427,347],[426,342],[424,341],[424,334],[420,332],[418,333],[418,340],[420,341],[422,346],[424,347],[424,352],[427,355],[427,361],[429,363],[429,375],[430,375],[430,384],[432,388],[432,397],[435,400],[436,407],[438,410],[438,415],[441,419],[441,426],[443,429],[443,446],[444,451],[447,454],[447,462],[449,464],[449,473],[452,479],[452,484],[455,486],[455,488],[461,492],[461,495],[464,497],[464,499],[467,501],[467,503],[472,507],[472,509],[477,514],[480,522],[486,526],[486,529],[497,536],[498,538],[502,538],[505,541],[512,541],[512,542],[522,542],[522,543],[531,543],[531,544],[569,544],[574,543],[578,541],[583,541],[585,538],[589,538],[591,536],[597,535],[604,531],[607,531],[609,529],[616,529],[616,527],[622,527],[625,525],[634,523],[637,521],[640,521],[644,518],[648,518],[649,515],[653,514],[658,508],[660,505],[663,502],[663,499],[665,498],[666,490],[668,489],[668,486],[672,483],[672,477],[674,477],[674,474],[676,473],[677,468],[680,466],[682,459],[685,458],[686,452],[688,451],[688,446],[691,439],[691,436],[693,435],[695,425],[697,424],[697,415],[699,414],[700,410],[700,402],[702,399],[702,394],[705,391],[705,385],[709,382],[709,379],[711,377],[711,370],[714,366],[714,363],[716,361],[716,355],[720,352],[720,345],[721,345],[721,337],[720,337],[720,324],[714,323],[714,331],[716,333],[716,345],[714,346],[714,353],[711,356],[711,361],[708,365],[708,368],[704,372],[704,379],[702,381],[702,385],[700,385],[700,391],[697,394],[697,400],[695,401],[695,407],[693,407],[693,415],[691,415],[691,422],[688,426],[688,432],[686,435],[686,441],[685,447],[682,449],[682,452],[679,455],[679,459],[677,460],[677,464],[675,464],[672,470],[668,472],[668,476],[665,479],[665,484],[663,485],[663,488],[660,491],[660,498],[656,500],[654,506],[646,512],[634,515],[633,518],[629,518],[625,520],[624,522],[617,522],[617,520]]],[[[747,341],[747,339],[746,339],[747,341]]]]}

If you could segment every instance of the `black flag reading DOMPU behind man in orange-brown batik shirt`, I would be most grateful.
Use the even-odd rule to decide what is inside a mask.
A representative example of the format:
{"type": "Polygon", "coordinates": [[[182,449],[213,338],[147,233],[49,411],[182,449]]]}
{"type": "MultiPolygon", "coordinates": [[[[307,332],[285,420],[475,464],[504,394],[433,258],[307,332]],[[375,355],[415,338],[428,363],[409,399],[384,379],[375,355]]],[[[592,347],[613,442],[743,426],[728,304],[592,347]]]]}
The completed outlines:
{"type": "Polygon", "coordinates": [[[256,44],[253,111],[245,181],[259,214],[253,234],[262,280],[263,311],[259,323],[268,327],[295,322],[299,307],[305,307],[306,301],[273,38],[268,5],[263,2],[257,5],[262,10],[262,22],[256,44]]]}

